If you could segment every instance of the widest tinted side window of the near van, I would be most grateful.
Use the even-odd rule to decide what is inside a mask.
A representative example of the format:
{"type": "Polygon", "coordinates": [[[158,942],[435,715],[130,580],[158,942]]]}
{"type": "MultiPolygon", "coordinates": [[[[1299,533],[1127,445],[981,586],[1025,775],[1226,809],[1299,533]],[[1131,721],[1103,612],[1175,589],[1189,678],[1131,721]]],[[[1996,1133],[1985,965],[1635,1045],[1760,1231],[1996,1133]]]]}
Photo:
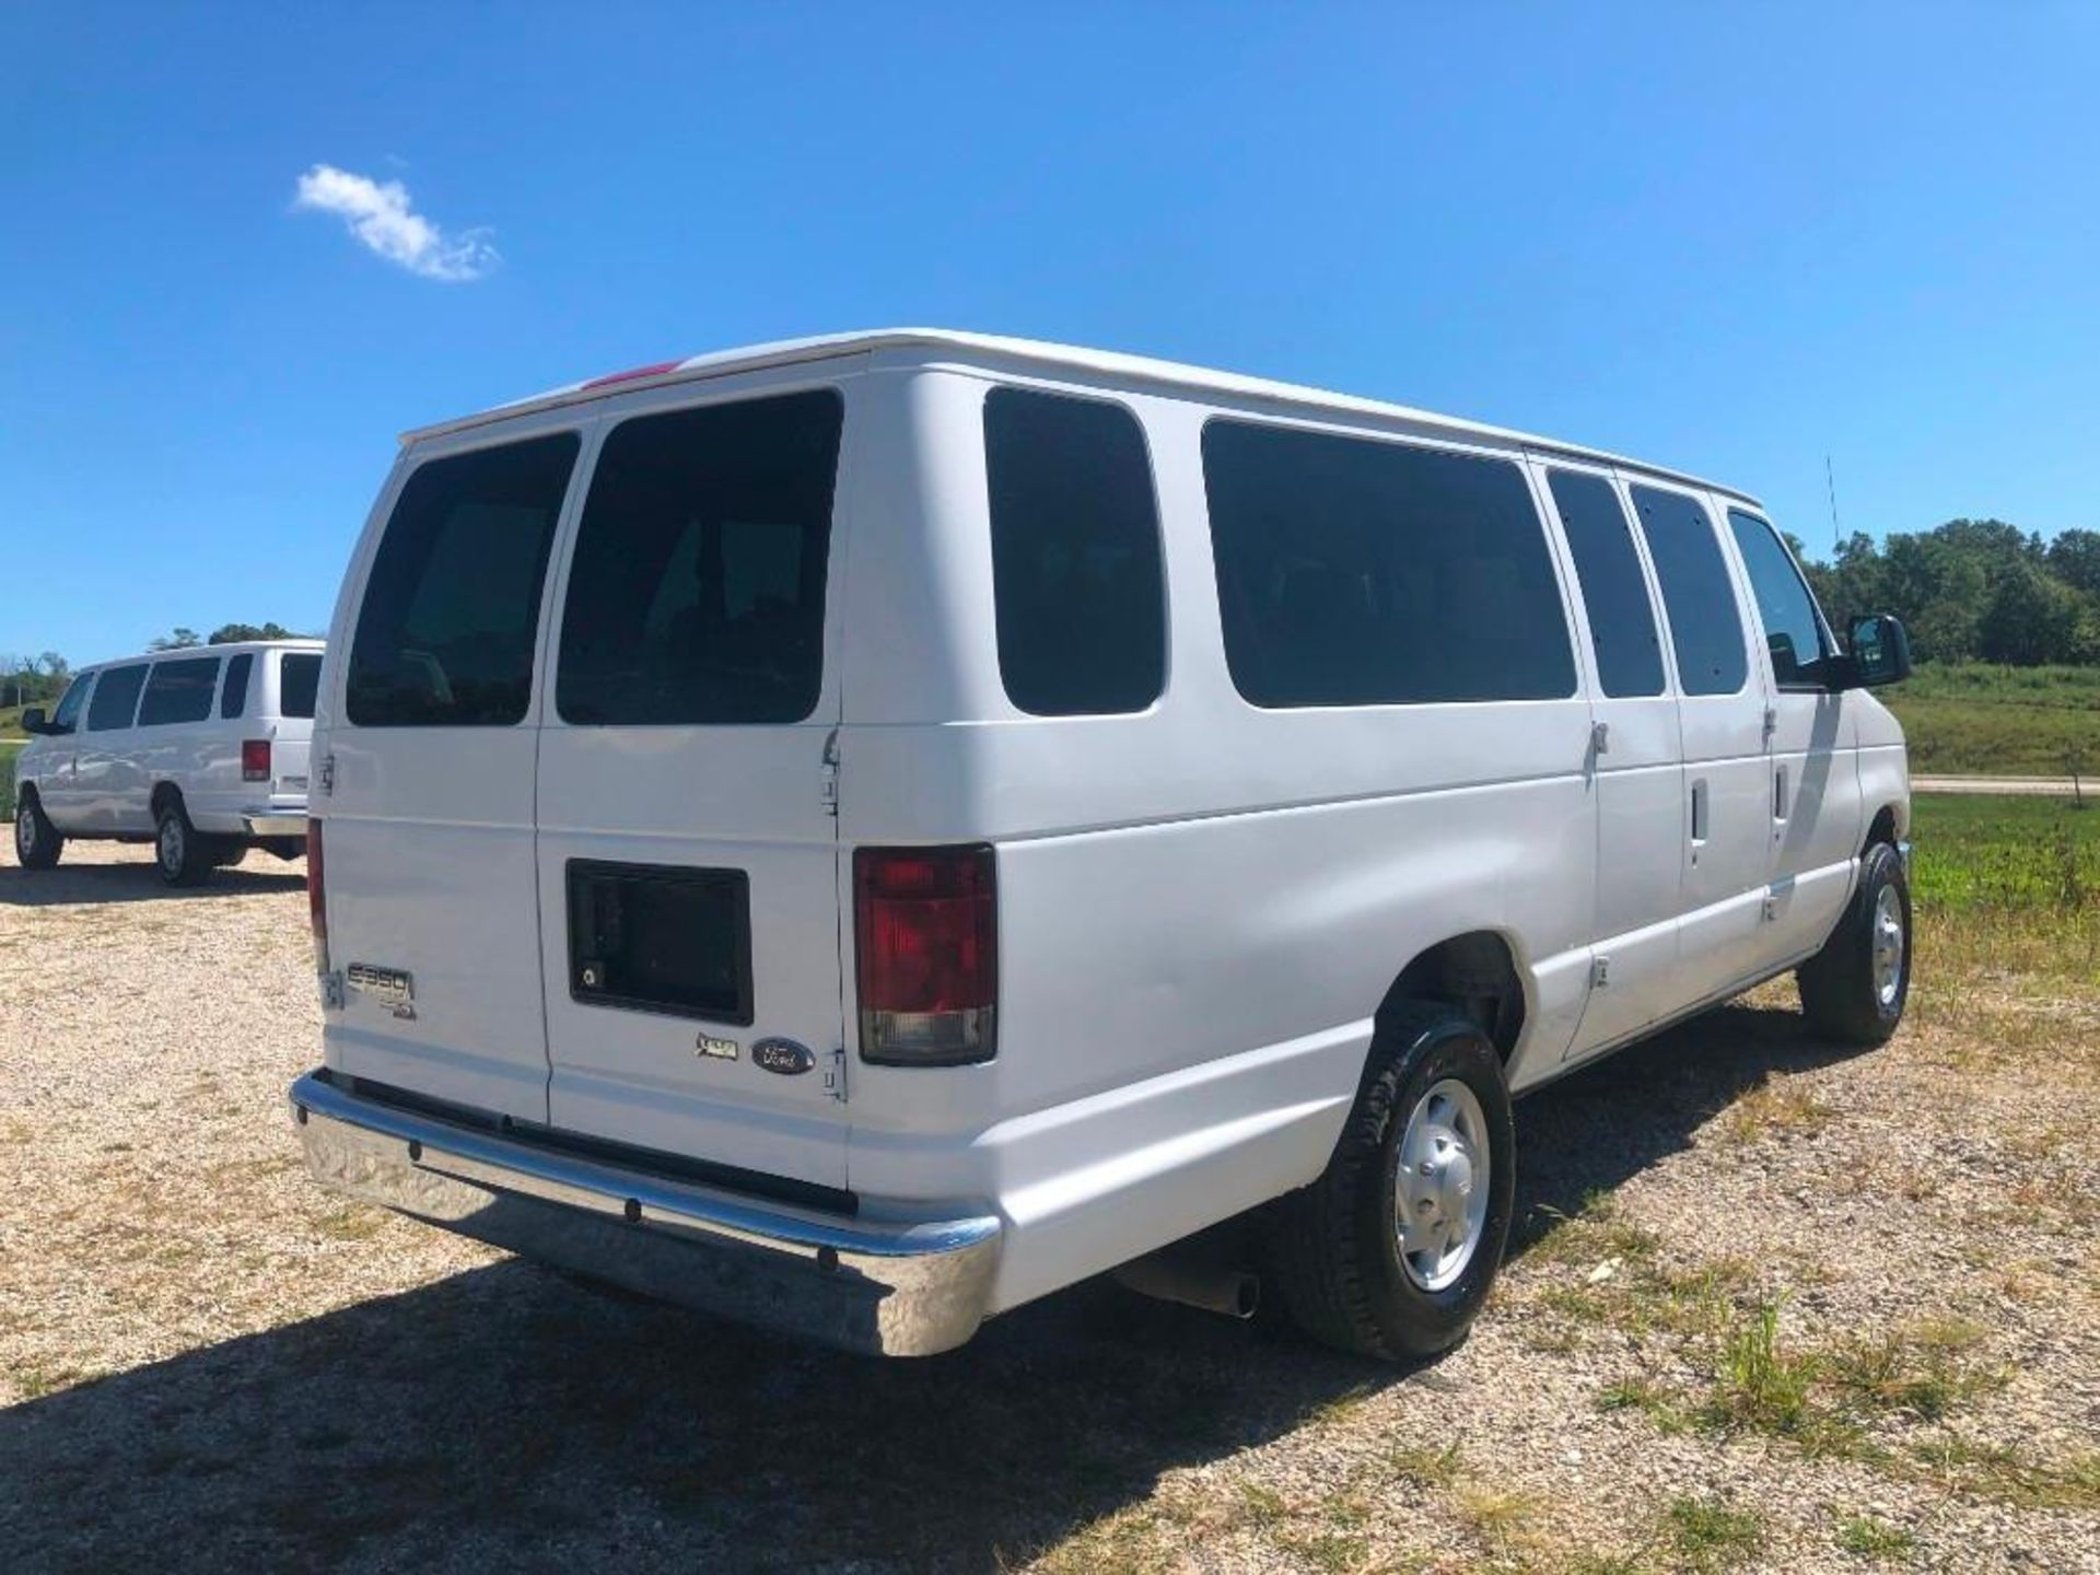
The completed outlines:
{"type": "Polygon", "coordinates": [[[1508,460],[1203,428],[1224,655],[1256,706],[1575,693],[1560,582],[1508,460]]]}

